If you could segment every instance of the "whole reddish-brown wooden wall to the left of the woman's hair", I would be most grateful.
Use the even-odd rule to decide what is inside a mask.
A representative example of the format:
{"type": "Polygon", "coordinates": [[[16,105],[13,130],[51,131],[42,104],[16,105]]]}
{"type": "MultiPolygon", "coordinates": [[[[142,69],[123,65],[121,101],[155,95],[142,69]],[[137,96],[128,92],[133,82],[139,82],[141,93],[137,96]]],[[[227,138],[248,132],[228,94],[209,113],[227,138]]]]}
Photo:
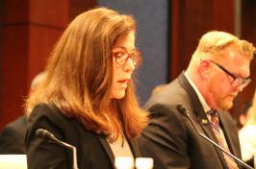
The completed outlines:
{"type": "Polygon", "coordinates": [[[0,1],[0,129],[23,114],[31,80],[70,19],[95,5],[95,0],[0,1]]]}

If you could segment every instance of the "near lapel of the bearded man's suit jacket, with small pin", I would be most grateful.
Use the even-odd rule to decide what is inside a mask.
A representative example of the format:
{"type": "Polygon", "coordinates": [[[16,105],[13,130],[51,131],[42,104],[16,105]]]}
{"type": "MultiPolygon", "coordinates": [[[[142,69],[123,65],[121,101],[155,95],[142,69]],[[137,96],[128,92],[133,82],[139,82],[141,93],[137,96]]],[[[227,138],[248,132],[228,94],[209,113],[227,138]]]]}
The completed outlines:
{"type": "MultiPolygon", "coordinates": [[[[218,143],[216,135],[210,126],[210,122],[207,118],[206,112],[204,111],[204,109],[201,105],[201,102],[200,102],[196,92],[194,91],[192,85],[189,83],[188,79],[185,77],[184,72],[179,76],[178,80],[191,98],[193,108],[192,108],[192,110],[190,110],[190,112],[192,113],[191,114],[192,120],[196,121],[195,124],[197,124],[197,122],[199,122],[199,125],[200,125],[201,129],[204,131],[204,133],[206,133],[206,136],[208,136],[210,139],[212,139],[213,141],[218,143]]],[[[197,129],[198,129],[198,126],[197,126],[197,129]]],[[[198,130],[200,131],[200,129],[198,129],[198,130]]],[[[202,138],[202,139],[204,139],[204,138],[202,138]]],[[[211,144],[211,143],[209,142],[209,144],[211,144]]],[[[219,157],[221,163],[223,165],[226,165],[226,162],[222,155],[222,152],[217,147],[215,147],[215,149],[218,153],[218,157],[219,157]]]]}

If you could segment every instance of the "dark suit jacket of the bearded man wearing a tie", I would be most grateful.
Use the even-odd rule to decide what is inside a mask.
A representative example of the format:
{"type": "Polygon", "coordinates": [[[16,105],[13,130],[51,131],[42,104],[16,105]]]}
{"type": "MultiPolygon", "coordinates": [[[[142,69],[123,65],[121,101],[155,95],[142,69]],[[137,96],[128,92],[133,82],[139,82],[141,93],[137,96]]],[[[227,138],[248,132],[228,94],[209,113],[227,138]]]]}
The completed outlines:
{"type": "MultiPolygon", "coordinates": [[[[190,111],[201,133],[218,142],[192,85],[181,74],[146,103],[152,119],[139,138],[142,155],[154,157],[155,169],[227,168],[221,151],[195,132],[188,118],[176,109],[178,104],[190,111]]],[[[231,153],[241,157],[233,119],[228,112],[219,112],[219,120],[231,153]]]]}

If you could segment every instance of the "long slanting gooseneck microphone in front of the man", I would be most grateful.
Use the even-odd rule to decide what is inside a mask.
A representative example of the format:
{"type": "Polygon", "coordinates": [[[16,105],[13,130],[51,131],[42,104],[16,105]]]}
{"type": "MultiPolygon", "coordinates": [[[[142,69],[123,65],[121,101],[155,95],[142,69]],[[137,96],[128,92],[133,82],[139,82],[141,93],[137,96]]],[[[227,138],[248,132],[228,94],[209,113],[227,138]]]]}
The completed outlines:
{"type": "Polygon", "coordinates": [[[200,136],[202,136],[204,139],[206,139],[208,142],[212,143],[214,146],[216,146],[219,150],[221,150],[222,152],[224,152],[225,154],[227,154],[229,157],[232,157],[233,159],[235,159],[237,162],[239,162],[240,164],[243,165],[243,167],[248,168],[248,169],[253,169],[251,166],[247,165],[245,162],[243,162],[242,159],[240,159],[239,157],[235,157],[234,155],[232,155],[231,153],[229,153],[228,151],[226,151],[224,148],[222,148],[221,146],[218,145],[218,143],[216,143],[215,141],[213,141],[212,139],[210,139],[209,137],[207,137],[206,135],[204,135],[203,133],[200,133],[197,128],[195,127],[195,124],[192,121],[192,117],[190,115],[190,112],[188,109],[186,109],[185,106],[183,106],[182,104],[178,104],[176,106],[176,109],[178,109],[178,111],[185,115],[189,121],[192,123],[192,127],[193,129],[196,131],[196,133],[198,133],[200,136]]]}

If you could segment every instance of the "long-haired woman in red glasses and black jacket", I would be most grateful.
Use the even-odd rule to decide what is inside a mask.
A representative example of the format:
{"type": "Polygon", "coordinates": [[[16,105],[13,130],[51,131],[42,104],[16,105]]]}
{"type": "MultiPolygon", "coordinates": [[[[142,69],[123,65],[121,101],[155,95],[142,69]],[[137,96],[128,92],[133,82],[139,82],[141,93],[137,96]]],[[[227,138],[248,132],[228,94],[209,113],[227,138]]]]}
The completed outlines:
{"type": "Polygon", "coordinates": [[[106,8],[78,15],[27,102],[28,168],[71,168],[72,153],[44,141],[38,129],[77,149],[78,168],[114,168],[115,157],[140,157],[135,138],[148,118],[138,104],[133,72],[141,61],[132,16],[106,8]]]}

